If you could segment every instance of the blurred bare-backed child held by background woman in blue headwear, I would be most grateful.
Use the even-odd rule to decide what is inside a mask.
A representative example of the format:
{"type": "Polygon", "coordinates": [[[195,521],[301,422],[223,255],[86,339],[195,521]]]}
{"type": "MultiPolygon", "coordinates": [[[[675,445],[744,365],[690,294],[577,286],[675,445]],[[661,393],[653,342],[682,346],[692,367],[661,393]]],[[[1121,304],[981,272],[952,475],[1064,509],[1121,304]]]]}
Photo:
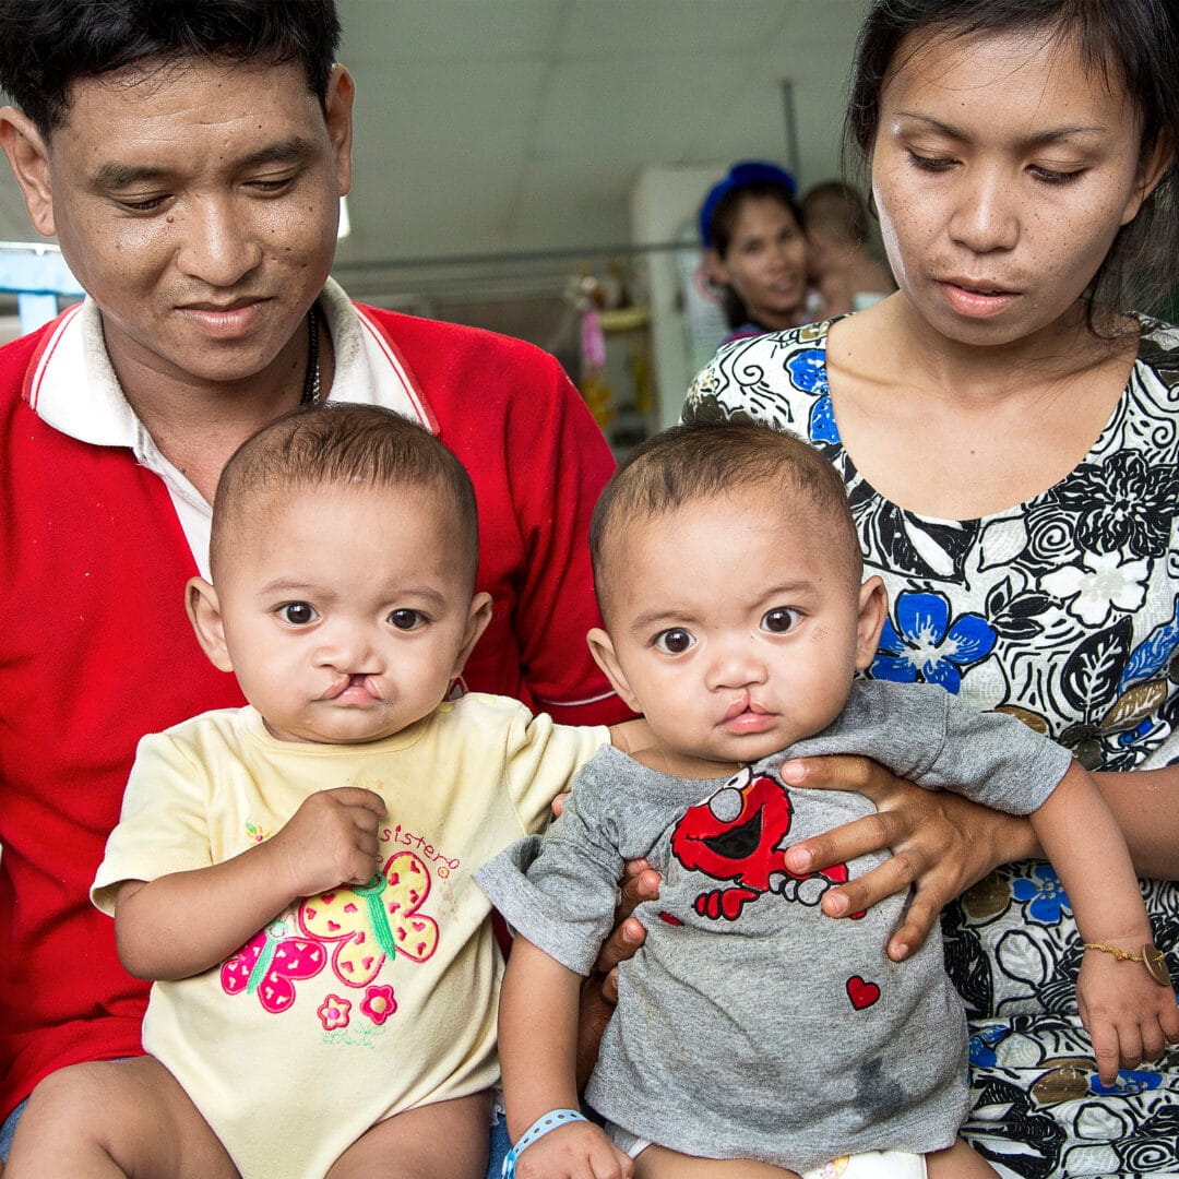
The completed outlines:
{"type": "Polygon", "coordinates": [[[868,206],[843,180],[824,180],[802,199],[816,318],[862,311],[896,290],[889,272],[868,255],[868,206]]]}

